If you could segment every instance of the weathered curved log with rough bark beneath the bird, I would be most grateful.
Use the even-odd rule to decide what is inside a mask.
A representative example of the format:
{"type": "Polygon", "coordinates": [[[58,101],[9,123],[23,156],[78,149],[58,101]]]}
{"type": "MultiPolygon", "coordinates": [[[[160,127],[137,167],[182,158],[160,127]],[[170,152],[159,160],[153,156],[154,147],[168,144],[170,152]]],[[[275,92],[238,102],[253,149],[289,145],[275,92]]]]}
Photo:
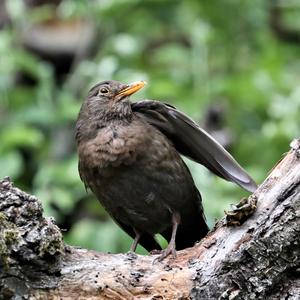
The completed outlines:
{"type": "Polygon", "coordinates": [[[157,255],[66,246],[34,196],[0,183],[1,299],[299,299],[300,140],[250,200],[241,226],[225,218],[193,248],[157,255]]]}

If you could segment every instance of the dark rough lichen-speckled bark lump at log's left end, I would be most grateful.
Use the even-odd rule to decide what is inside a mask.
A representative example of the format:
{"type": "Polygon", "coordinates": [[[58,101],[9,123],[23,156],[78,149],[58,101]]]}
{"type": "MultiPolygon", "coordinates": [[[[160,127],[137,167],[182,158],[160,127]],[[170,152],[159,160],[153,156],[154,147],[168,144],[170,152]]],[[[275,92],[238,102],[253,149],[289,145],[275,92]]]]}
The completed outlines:
{"type": "MultiPolygon", "coordinates": [[[[40,272],[60,271],[64,243],[52,218],[43,217],[40,201],[12,186],[9,178],[0,182],[0,298],[23,286],[30,289],[40,272]],[[12,278],[18,280],[12,280],[12,278]],[[30,278],[30,280],[28,280],[30,278]],[[16,286],[16,282],[23,284],[16,286]],[[26,282],[26,285],[24,284],[26,282]]],[[[51,284],[52,286],[53,284],[51,284]]],[[[23,290],[22,289],[22,290],[23,290]]],[[[9,298],[8,298],[9,299],[9,298]]]]}

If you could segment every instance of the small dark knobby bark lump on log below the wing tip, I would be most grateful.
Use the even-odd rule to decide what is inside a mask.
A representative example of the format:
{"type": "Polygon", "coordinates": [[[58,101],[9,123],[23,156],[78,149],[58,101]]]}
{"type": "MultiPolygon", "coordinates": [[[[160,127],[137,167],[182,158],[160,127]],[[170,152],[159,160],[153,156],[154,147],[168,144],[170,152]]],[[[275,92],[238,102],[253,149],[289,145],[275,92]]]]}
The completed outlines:
{"type": "Polygon", "coordinates": [[[242,198],[232,211],[225,211],[226,225],[239,226],[243,224],[255,212],[256,203],[257,197],[255,195],[242,198]]]}

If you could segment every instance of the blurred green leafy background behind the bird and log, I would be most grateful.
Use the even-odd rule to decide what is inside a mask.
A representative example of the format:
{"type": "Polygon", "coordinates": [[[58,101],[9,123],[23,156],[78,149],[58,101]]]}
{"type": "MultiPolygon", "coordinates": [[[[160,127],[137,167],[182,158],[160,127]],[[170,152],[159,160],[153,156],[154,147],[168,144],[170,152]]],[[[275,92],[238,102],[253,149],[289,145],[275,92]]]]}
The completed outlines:
{"type": "MultiPolygon", "coordinates": [[[[74,125],[89,88],[146,80],[260,183],[299,136],[300,2],[0,1],[0,178],[37,195],[72,245],[128,251],[86,193],[74,125]]],[[[207,220],[248,194],[187,160],[207,220]]],[[[143,249],[139,249],[143,253],[143,249]]]]}

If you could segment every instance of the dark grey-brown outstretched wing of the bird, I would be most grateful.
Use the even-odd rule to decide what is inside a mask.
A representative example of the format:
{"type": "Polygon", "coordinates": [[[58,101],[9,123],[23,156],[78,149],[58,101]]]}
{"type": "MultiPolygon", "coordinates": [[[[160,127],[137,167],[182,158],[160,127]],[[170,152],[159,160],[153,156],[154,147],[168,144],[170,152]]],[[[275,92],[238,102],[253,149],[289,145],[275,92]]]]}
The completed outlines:
{"type": "Polygon", "coordinates": [[[175,107],[143,100],[133,103],[132,110],[165,134],[182,155],[247,191],[254,192],[257,188],[246,171],[212,136],[175,107]]]}

